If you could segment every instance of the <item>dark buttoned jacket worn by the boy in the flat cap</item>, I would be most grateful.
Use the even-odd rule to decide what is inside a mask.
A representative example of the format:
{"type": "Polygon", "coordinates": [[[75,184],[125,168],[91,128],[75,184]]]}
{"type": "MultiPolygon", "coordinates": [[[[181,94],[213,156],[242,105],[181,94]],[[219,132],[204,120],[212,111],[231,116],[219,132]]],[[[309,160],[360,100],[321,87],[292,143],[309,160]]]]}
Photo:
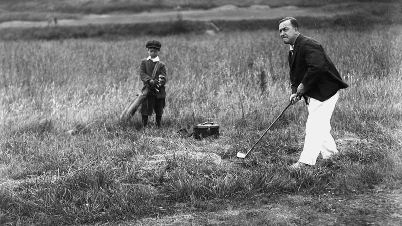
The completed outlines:
{"type": "Polygon", "coordinates": [[[154,79],[158,80],[159,75],[165,76],[165,82],[161,83],[161,87],[159,88],[159,92],[156,92],[152,90],[149,95],[155,96],[158,99],[166,98],[166,90],[165,90],[165,83],[167,81],[167,76],[166,76],[166,67],[165,64],[162,61],[159,61],[159,68],[156,71],[155,78],[151,78],[152,72],[154,71],[156,62],[152,62],[152,60],[147,60],[147,59],[142,59],[141,64],[140,64],[140,78],[141,81],[144,82],[144,87],[142,91],[144,91],[147,87],[149,87],[149,80],[154,79]]]}

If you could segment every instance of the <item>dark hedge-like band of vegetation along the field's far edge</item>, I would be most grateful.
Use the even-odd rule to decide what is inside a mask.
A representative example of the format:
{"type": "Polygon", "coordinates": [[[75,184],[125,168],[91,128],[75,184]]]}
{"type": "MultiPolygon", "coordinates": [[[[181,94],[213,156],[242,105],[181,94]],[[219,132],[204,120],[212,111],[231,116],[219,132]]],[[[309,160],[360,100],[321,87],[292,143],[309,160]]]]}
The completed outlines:
{"type": "MultiPolygon", "coordinates": [[[[276,19],[259,20],[214,20],[211,21],[219,31],[277,29],[276,19]]],[[[326,28],[333,26],[354,27],[366,29],[362,25],[398,24],[402,17],[391,15],[388,17],[375,16],[370,13],[355,13],[335,17],[297,17],[300,26],[305,28],[326,28]]],[[[204,33],[216,29],[209,22],[204,21],[166,21],[136,24],[103,24],[84,26],[48,26],[32,28],[4,28],[0,30],[0,40],[55,40],[71,38],[117,38],[134,37],[142,35],[165,36],[185,33],[204,33]]]]}

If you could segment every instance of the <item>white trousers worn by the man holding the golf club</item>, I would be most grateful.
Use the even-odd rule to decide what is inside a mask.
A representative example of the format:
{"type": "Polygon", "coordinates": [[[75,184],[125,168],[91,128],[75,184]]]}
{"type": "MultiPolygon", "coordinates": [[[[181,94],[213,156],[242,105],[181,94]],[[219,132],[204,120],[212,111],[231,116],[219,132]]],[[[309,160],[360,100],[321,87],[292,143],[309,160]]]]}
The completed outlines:
{"type": "Polygon", "coordinates": [[[305,144],[299,162],[314,165],[320,153],[323,159],[338,153],[334,138],[330,134],[330,119],[338,98],[339,91],[323,102],[308,98],[309,116],[306,121],[305,144]]]}

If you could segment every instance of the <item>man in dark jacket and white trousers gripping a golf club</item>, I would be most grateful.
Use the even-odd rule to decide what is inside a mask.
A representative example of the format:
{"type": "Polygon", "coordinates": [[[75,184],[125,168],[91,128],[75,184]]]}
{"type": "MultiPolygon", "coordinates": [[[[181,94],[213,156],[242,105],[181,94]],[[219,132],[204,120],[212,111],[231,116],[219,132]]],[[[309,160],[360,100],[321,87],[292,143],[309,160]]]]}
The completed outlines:
{"type": "Polygon", "coordinates": [[[339,97],[339,90],[348,85],[314,39],[299,32],[295,18],[279,21],[279,33],[285,44],[290,45],[289,66],[292,104],[304,98],[309,115],[306,121],[306,137],[302,154],[290,169],[315,165],[318,155],[323,159],[337,154],[338,150],[330,134],[330,119],[339,97]]]}

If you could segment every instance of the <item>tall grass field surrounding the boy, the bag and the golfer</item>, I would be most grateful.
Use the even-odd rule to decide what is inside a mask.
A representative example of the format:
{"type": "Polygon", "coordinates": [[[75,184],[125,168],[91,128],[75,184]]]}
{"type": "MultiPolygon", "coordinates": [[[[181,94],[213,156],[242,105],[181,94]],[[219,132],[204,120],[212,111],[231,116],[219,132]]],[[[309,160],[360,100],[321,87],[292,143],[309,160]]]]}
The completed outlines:
{"type": "Polygon", "coordinates": [[[288,109],[249,159],[235,159],[289,96],[288,47],[277,32],[1,42],[0,223],[124,220],[169,214],[177,202],[196,208],[262,193],[400,186],[402,27],[303,33],[323,44],[350,87],[332,119],[341,154],[290,175],[285,166],[303,143],[303,104],[288,109]],[[163,128],[142,130],[137,115],[127,123],[118,116],[141,89],[138,66],[150,39],[162,42],[167,107],[163,128]],[[204,121],[221,125],[219,139],[175,133],[204,121]],[[155,154],[186,150],[222,162],[170,155],[152,163],[155,154]]]}

